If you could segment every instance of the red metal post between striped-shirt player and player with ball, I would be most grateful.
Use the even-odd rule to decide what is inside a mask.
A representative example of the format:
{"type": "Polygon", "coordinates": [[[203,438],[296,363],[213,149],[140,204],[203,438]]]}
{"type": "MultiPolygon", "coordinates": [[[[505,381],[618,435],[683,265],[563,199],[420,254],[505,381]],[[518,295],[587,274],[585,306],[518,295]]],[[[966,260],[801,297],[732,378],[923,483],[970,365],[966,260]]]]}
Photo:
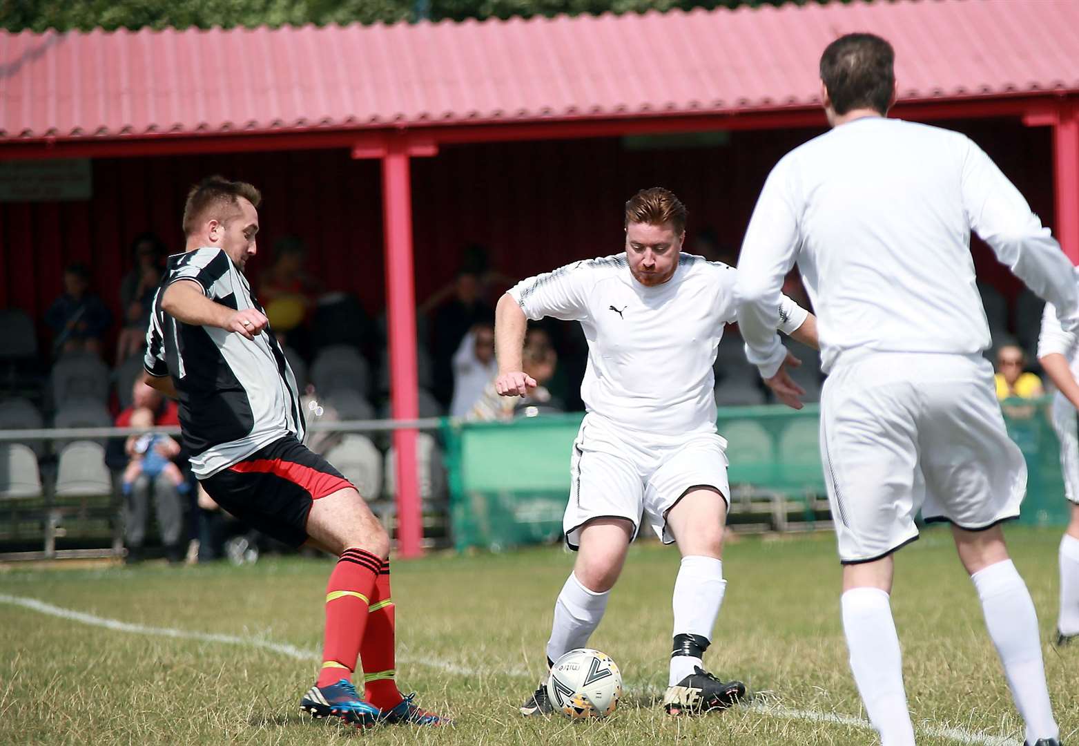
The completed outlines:
{"type": "MultiPolygon", "coordinates": [[[[390,397],[394,419],[414,420],[420,412],[415,367],[415,288],[412,272],[412,186],[409,152],[391,137],[382,157],[382,213],[386,245],[386,315],[390,325],[390,397]]],[[[397,451],[397,551],[401,557],[423,554],[418,431],[394,431],[397,451]]]]}

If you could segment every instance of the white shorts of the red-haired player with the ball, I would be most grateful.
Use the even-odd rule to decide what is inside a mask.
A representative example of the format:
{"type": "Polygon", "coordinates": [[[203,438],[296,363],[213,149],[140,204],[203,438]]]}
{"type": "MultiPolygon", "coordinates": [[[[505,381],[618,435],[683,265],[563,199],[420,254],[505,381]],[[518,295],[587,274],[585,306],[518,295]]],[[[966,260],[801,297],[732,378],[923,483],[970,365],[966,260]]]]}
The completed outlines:
{"type": "Polygon", "coordinates": [[[634,539],[646,520],[670,544],[667,512],[691,487],[719,490],[729,507],[726,445],[715,433],[665,437],[586,415],[573,443],[570,502],[562,518],[565,543],[576,551],[581,527],[610,517],[631,521],[634,539]]]}

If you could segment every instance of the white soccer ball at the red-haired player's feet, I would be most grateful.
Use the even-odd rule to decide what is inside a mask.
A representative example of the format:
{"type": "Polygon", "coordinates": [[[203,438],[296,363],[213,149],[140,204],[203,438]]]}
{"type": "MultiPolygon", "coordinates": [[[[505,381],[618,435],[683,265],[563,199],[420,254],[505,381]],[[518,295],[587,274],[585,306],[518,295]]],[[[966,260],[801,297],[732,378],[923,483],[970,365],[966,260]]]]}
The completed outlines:
{"type": "Polygon", "coordinates": [[[547,696],[556,713],[573,720],[604,718],[618,706],[622,672],[606,653],[577,648],[555,661],[547,696]]]}

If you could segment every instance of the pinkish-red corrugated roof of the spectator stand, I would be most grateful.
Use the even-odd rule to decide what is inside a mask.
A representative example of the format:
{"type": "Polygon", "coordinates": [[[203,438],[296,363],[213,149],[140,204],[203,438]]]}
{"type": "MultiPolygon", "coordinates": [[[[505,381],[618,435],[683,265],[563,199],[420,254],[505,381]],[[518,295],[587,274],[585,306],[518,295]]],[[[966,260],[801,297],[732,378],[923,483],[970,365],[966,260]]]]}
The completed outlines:
{"type": "Polygon", "coordinates": [[[856,30],[894,44],[903,99],[1079,91],[1074,0],[0,32],[0,141],[804,108],[856,30]]]}

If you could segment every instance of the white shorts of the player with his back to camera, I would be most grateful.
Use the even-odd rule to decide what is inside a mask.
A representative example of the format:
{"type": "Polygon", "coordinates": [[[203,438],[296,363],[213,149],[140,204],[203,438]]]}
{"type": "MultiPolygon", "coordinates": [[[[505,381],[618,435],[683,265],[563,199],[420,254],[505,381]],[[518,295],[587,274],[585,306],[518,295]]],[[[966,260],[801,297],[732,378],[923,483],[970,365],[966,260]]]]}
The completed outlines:
{"type": "Polygon", "coordinates": [[[839,558],[887,556],[914,518],[987,529],[1019,516],[1026,462],[980,355],[872,353],[842,362],[821,395],[820,449],[839,558]]]}

